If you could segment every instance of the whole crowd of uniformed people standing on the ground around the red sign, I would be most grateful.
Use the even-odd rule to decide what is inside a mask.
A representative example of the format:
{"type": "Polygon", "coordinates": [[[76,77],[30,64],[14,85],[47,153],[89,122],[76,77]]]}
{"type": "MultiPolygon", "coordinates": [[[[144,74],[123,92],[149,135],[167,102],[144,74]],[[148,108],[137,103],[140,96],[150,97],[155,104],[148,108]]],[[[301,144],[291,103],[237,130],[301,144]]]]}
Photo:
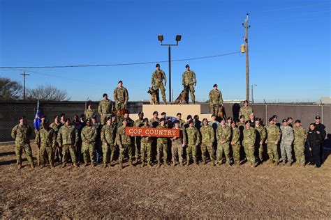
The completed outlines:
{"type": "MultiPolygon", "coordinates": [[[[101,101],[99,109],[101,107],[102,113],[106,114],[112,106],[106,105],[105,100],[107,98],[101,101]],[[102,106],[107,106],[108,109],[103,109],[102,106]]],[[[89,109],[91,110],[91,107],[89,109]]],[[[277,116],[272,116],[268,125],[264,126],[263,120],[255,118],[252,109],[247,104],[244,104],[240,112],[242,114],[237,123],[231,117],[216,120],[215,114],[212,114],[212,120],[208,121],[207,118],[204,118],[200,122],[198,116],[194,116],[194,118],[188,116],[184,121],[182,114],[177,113],[176,120],[172,121],[166,117],[166,113],[161,113],[161,118],[159,118],[159,113],[155,111],[151,119],[144,118],[144,113],[140,112],[139,119],[135,121],[129,118],[128,113],[124,114],[123,118],[117,118],[111,114],[101,125],[96,123],[95,115],[89,118],[88,112],[85,111],[87,119],[84,120],[82,119],[84,116],[81,116],[84,125],[80,129],[76,128],[77,123],[71,123],[70,118],[64,119],[64,123],[58,123],[59,116],[56,116],[52,126],[49,125],[48,120],[43,119],[42,127],[36,136],[37,143],[41,145],[41,167],[45,166],[47,159],[50,168],[54,168],[54,156],[57,151],[61,151],[61,167],[66,166],[69,155],[73,166],[78,166],[80,162],[78,152],[82,153],[84,166],[87,166],[89,161],[91,166],[96,166],[98,162],[96,155],[100,153],[103,155],[104,166],[109,166],[114,161],[117,152],[119,168],[124,167],[125,157],[128,157],[128,163],[131,166],[140,162],[141,166],[156,164],[159,167],[161,164],[168,166],[170,163],[173,166],[177,163],[180,166],[189,166],[192,162],[197,165],[207,164],[207,155],[213,166],[223,163],[228,166],[240,165],[247,161],[252,167],[256,167],[266,161],[263,154],[265,145],[269,162],[274,166],[277,166],[280,161],[282,164],[290,166],[293,163],[292,150],[295,152],[297,164],[304,166],[306,164],[305,145],[308,146],[311,156],[314,157],[316,167],[321,166],[323,159],[321,160],[320,152],[321,143],[325,138],[325,127],[319,123],[319,116],[316,116],[316,123],[310,125],[307,134],[301,126],[300,120],[296,120],[293,126],[293,119],[288,118],[282,121],[282,125],[279,125],[277,116]],[[244,116],[247,113],[249,113],[249,120],[246,120],[244,116]],[[179,137],[127,136],[126,127],[179,129],[179,137]],[[98,145],[100,150],[98,150],[98,145]],[[279,148],[281,159],[278,154],[279,148]],[[154,156],[156,156],[156,163],[153,162],[154,156]],[[200,161],[200,156],[202,161],[200,161]],[[135,162],[133,162],[133,158],[135,158],[135,162]]],[[[31,134],[32,129],[27,125],[26,119],[20,118],[20,124],[12,130],[16,143],[17,168],[22,166],[23,150],[27,154],[31,167],[34,167],[29,145],[31,134]]]]}

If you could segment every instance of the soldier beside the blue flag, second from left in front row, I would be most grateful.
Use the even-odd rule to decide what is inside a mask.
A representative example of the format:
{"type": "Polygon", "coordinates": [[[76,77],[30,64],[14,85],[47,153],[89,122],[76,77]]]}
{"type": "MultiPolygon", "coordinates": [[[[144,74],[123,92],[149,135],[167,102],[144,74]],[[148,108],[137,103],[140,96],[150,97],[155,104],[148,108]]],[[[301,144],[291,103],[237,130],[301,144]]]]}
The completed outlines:
{"type": "Polygon", "coordinates": [[[45,155],[48,156],[50,168],[54,168],[54,151],[57,143],[57,134],[49,125],[48,120],[44,120],[43,127],[39,130],[39,136],[36,140],[37,144],[41,145],[41,168],[45,166],[45,155]]]}

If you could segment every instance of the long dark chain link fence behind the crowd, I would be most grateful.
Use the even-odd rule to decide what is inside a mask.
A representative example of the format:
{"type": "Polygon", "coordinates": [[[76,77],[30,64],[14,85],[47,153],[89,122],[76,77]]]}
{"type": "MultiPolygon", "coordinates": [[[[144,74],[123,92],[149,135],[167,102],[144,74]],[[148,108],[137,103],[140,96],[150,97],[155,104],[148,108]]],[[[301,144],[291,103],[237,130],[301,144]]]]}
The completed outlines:
{"type": "MultiPolygon", "coordinates": [[[[127,109],[130,113],[138,113],[142,111],[142,104],[149,104],[149,102],[128,102],[127,109]]],[[[41,102],[40,110],[41,115],[46,115],[52,121],[54,116],[61,113],[65,113],[69,118],[73,118],[76,114],[79,116],[84,113],[85,106],[86,102],[41,102]]],[[[226,116],[238,118],[241,106],[240,104],[224,104],[226,116]]],[[[277,115],[280,122],[283,118],[292,117],[293,120],[300,119],[305,129],[308,129],[310,123],[315,122],[315,116],[321,116],[321,122],[325,125],[327,132],[328,140],[325,144],[331,146],[331,105],[251,104],[250,106],[256,117],[264,118],[265,123],[273,115],[277,115]]],[[[0,142],[13,141],[10,132],[21,116],[26,116],[28,124],[34,127],[36,107],[36,102],[0,102],[0,142]]],[[[97,110],[98,102],[92,102],[92,108],[97,110]]],[[[203,113],[207,113],[209,104],[201,103],[201,109],[203,113]]],[[[100,118],[99,115],[98,118],[100,118]]]]}

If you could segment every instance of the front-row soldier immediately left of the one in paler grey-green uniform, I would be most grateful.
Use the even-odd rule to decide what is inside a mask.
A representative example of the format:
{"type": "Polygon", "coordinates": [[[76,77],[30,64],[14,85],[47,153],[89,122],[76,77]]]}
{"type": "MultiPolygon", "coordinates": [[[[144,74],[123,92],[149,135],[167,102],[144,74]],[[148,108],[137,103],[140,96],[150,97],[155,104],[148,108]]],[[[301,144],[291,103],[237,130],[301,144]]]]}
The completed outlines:
{"type": "Polygon", "coordinates": [[[278,143],[281,139],[281,132],[279,131],[279,127],[274,125],[274,118],[269,118],[269,125],[265,129],[267,130],[265,143],[267,143],[267,154],[269,155],[270,164],[277,166],[279,161],[278,143]]]}

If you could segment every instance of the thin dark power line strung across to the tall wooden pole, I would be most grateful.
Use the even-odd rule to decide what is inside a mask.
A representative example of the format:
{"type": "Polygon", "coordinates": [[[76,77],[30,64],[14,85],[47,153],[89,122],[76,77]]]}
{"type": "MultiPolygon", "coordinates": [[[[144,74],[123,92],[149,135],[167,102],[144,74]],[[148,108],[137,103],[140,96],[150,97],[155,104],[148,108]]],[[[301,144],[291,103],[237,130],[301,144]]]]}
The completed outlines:
{"type": "MultiPolygon", "coordinates": [[[[205,58],[215,58],[219,56],[228,56],[233,54],[240,54],[240,52],[233,52],[228,54],[217,54],[212,56],[200,56],[195,58],[183,58],[172,60],[172,62],[180,61],[193,61],[205,58]]],[[[45,69],[45,68],[89,68],[89,67],[106,67],[106,66],[124,66],[124,65],[145,65],[152,63],[167,63],[168,61],[150,61],[150,62],[140,62],[140,63],[114,63],[114,64],[91,64],[91,65],[49,65],[49,66],[18,66],[18,67],[0,67],[0,69],[45,69]]]]}

